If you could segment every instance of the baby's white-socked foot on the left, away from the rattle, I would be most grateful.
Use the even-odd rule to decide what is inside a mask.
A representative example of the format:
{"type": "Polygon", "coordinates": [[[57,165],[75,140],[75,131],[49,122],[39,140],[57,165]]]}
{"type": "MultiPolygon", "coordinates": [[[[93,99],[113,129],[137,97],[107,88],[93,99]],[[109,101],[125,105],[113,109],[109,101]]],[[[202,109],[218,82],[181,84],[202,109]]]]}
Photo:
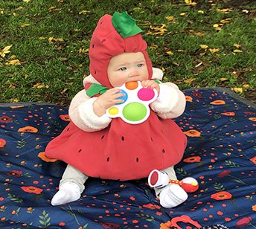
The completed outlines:
{"type": "Polygon", "coordinates": [[[65,182],[60,186],[60,190],[51,199],[51,204],[56,206],[60,204],[67,204],[72,201],[80,199],[80,188],[74,182],[65,182]]]}

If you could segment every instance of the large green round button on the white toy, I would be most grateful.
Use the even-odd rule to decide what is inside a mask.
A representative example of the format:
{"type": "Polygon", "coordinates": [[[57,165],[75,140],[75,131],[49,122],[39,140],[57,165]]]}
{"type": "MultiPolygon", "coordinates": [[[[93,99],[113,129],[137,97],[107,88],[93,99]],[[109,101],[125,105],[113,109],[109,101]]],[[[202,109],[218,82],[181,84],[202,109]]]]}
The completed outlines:
{"type": "Polygon", "coordinates": [[[142,103],[129,103],[124,106],[123,115],[127,120],[136,122],[147,115],[147,108],[142,103]]]}

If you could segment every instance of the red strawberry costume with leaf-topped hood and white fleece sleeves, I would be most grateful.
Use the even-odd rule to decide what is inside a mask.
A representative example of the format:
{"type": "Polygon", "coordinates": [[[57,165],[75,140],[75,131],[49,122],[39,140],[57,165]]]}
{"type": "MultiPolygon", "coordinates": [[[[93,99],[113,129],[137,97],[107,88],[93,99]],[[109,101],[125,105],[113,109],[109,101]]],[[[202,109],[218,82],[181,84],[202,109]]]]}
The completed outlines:
{"type": "Polygon", "coordinates": [[[149,79],[159,78],[160,70],[152,68],[141,31],[127,13],[99,20],[89,50],[91,74],[84,80],[85,90],[71,101],[71,122],[48,143],[48,158],[65,161],[86,177],[121,181],[146,178],[154,169],[164,170],[181,161],[187,138],[171,118],[184,112],[185,96],[175,84],[159,85],[159,97],[150,104],[150,117],[144,123],[131,125],[106,114],[98,117],[93,111],[97,96],[112,88],[107,75],[112,57],[141,52],[149,79]]]}

